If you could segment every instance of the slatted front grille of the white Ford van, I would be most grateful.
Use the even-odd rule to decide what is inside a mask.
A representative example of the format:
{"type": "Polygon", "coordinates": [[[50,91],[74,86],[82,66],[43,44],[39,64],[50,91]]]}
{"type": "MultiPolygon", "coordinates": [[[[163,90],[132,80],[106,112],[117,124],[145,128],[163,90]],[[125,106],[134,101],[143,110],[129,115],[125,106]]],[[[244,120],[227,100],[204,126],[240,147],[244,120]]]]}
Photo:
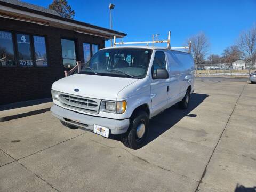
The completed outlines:
{"type": "Polygon", "coordinates": [[[78,97],[76,95],[60,94],[60,102],[70,109],[85,111],[97,114],[100,107],[100,99],[78,97]]]}

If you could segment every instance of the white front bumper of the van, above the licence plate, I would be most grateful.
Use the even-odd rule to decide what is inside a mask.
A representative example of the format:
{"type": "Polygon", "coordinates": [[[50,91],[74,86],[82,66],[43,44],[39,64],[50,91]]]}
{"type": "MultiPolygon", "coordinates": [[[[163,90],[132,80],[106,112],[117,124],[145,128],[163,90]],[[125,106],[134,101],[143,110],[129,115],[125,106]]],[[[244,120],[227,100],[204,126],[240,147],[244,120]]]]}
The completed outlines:
{"type": "Polygon", "coordinates": [[[63,122],[80,127],[81,129],[88,129],[93,131],[93,125],[97,124],[110,129],[110,134],[122,134],[127,132],[130,121],[129,119],[109,119],[103,117],[95,117],[77,113],[60,106],[53,105],[51,107],[52,115],[63,122]]]}

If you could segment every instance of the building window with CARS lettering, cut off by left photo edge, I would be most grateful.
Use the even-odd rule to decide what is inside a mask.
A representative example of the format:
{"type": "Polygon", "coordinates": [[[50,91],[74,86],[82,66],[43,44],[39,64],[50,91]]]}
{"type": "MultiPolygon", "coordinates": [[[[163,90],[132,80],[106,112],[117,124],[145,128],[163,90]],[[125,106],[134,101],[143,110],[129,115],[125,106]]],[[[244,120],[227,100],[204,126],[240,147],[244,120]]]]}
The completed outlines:
{"type": "Polygon", "coordinates": [[[12,33],[0,31],[0,66],[15,66],[12,33]]]}

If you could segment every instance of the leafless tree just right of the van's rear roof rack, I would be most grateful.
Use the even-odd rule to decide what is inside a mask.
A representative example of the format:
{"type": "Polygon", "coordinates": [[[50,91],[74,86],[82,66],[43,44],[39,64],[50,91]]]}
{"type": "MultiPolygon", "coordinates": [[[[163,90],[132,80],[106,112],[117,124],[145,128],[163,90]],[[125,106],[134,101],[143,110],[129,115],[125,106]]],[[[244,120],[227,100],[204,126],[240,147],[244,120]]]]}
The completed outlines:
{"type": "Polygon", "coordinates": [[[210,43],[203,32],[199,32],[198,34],[191,36],[188,39],[187,44],[189,44],[189,41],[191,41],[191,53],[193,55],[196,68],[198,68],[209,51],[210,43]]]}

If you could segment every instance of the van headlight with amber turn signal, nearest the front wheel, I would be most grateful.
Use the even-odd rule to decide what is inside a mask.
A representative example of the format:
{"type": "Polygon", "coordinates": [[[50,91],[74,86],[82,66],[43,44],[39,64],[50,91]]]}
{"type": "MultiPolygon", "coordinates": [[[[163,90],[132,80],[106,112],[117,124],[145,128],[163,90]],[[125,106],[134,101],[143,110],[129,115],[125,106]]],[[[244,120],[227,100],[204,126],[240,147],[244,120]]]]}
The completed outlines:
{"type": "Polygon", "coordinates": [[[122,114],[126,110],[126,101],[102,101],[100,110],[110,113],[122,114]]]}

